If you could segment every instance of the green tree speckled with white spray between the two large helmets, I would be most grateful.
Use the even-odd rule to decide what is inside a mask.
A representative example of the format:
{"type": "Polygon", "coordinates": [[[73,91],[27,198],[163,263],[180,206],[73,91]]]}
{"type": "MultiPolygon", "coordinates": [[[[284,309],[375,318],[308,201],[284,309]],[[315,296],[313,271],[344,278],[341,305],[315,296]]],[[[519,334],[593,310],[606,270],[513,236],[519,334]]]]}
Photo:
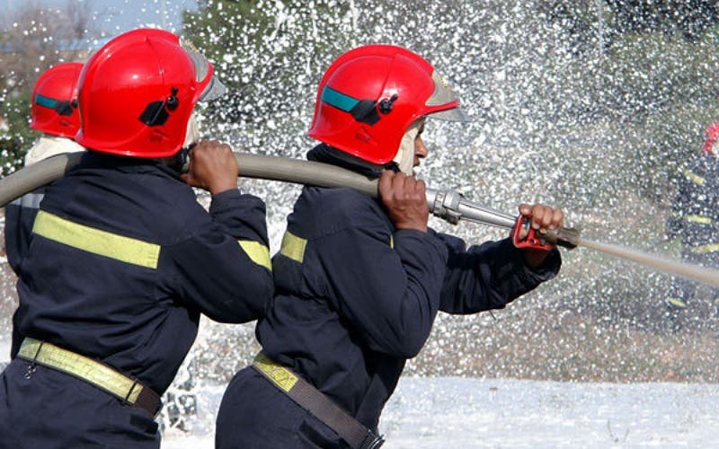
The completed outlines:
{"type": "Polygon", "coordinates": [[[301,134],[319,76],[347,48],[343,2],[202,0],[184,15],[184,35],[214,62],[229,88],[209,105],[219,128],[240,128],[253,146],[280,127],[301,134]],[[277,117],[284,119],[280,124],[277,117]]]}

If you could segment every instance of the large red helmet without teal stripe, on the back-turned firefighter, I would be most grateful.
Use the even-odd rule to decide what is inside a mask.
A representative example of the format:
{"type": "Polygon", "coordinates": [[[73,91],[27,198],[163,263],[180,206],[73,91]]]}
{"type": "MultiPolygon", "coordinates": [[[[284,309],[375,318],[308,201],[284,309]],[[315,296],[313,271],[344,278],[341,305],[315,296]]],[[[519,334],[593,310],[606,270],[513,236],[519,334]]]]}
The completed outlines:
{"type": "Polygon", "coordinates": [[[169,31],[114,38],[80,75],[78,144],[103,153],[164,157],[182,147],[195,104],[225,91],[214,69],[169,31]]]}

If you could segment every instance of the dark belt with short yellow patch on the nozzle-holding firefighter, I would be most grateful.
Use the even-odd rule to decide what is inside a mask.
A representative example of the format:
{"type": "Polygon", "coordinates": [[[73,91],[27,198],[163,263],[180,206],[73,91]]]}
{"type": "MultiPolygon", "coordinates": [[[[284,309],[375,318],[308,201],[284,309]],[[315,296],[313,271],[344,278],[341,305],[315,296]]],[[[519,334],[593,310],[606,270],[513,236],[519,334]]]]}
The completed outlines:
{"type": "Polygon", "coordinates": [[[355,449],[377,449],[385,443],[382,436],[364,427],[352,418],[323,392],[317,390],[288,367],[278,365],[262,354],[254,357],[253,368],[273,385],[288,395],[298,406],[312,413],[327,427],[333,429],[355,449]]]}

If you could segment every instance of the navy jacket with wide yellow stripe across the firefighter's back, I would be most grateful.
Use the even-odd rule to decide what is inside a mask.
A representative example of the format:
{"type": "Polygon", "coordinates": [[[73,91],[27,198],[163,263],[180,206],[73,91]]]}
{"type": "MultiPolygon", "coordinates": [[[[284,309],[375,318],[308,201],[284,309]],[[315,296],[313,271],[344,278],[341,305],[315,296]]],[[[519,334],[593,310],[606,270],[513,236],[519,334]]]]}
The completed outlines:
{"type": "Polygon", "coordinates": [[[40,204],[18,267],[16,330],[162,394],[200,313],[262,315],[273,291],[267,244],[259,198],[227,190],[208,214],[163,165],[89,152],[40,204]]]}

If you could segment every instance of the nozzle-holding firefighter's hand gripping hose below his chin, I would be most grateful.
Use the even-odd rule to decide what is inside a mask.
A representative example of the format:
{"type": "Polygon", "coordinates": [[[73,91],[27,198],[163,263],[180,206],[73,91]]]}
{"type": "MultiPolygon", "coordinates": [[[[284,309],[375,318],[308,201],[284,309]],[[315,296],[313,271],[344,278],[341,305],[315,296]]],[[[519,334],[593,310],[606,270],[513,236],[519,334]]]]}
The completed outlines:
{"type": "Polygon", "coordinates": [[[379,177],[379,197],[389,219],[397,229],[427,232],[430,209],[427,207],[423,180],[415,180],[402,172],[385,170],[379,177]]]}

